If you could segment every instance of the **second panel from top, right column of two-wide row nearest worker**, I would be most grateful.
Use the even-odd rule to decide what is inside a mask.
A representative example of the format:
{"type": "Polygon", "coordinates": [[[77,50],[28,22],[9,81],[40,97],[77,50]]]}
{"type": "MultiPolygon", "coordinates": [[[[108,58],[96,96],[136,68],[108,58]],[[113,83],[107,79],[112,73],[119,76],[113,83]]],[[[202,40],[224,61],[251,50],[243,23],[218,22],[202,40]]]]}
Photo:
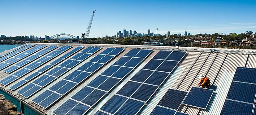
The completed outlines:
{"type": "Polygon", "coordinates": [[[171,72],[177,64],[178,62],[174,62],[174,61],[164,61],[156,70],[171,72]]]}

